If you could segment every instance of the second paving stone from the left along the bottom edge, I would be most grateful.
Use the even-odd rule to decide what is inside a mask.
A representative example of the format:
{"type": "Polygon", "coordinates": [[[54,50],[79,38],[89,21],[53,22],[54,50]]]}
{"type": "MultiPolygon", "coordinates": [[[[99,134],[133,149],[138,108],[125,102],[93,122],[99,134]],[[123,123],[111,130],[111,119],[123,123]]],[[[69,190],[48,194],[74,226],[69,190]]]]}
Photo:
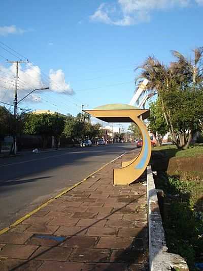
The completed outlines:
{"type": "Polygon", "coordinates": [[[73,263],[73,262],[45,262],[38,270],[39,271],[81,271],[83,268],[83,263],[73,263]]]}

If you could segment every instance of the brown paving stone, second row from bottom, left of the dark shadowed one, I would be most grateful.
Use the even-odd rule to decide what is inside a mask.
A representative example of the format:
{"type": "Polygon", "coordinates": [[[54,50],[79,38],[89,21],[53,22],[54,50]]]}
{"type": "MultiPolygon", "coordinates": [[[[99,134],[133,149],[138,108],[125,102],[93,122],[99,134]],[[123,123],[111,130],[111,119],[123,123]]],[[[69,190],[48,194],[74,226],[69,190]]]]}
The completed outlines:
{"type": "Polygon", "coordinates": [[[74,249],[69,260],[72,262],[108,262],[111,252],[108,249],[74,249]]]}

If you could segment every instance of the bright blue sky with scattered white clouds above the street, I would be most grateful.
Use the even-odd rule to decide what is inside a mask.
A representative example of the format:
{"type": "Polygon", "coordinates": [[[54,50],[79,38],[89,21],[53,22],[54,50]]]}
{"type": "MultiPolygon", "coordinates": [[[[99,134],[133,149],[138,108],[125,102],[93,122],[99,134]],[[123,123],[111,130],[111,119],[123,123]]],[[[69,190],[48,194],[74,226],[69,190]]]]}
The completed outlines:
{"type": "Polygon", "coordinates": [[[203,46],[203,0],[2,0],[0,101],[76,115],[110,103],[128,104],[149,55],[168,64],[171,50],[190,57],[203,46]]]}

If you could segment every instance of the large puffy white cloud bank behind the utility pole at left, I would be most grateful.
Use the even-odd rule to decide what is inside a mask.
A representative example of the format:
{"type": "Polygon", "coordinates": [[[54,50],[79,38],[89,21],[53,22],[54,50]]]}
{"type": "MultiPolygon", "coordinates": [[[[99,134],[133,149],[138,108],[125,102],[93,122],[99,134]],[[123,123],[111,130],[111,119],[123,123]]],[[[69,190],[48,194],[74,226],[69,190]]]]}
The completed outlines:
{"type": "MultiPolygon", "coordinates": [[[[0,65],[0,101],[13,103],[15,91],[16,64],[10,67],[0,65]]],[[[47,92],[74,94],[70,84],[65,83],[65,75],[62,70],[50,70],[49,79],[43,81],[41,70],[38,66],[28,63],[25,66],[19,65],[18,69],[18,101],[27,95],[32,89],[49,86],[47,92]],[[24,68],[24,70],[22,70],[24,68]]],[[[42,91],[44,93],[44,91],[42,91]]],[[[41,102],[41,91],[31,94],[25,102],[41,102]]]]}

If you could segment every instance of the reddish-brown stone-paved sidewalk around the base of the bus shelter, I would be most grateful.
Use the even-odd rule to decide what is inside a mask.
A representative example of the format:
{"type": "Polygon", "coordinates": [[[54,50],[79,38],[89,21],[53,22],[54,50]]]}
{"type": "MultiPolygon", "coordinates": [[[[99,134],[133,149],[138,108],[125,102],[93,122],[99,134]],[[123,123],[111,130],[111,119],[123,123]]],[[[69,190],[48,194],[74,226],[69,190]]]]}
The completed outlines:
{"type": "Polygon", "coordinates": [[[0,270],[147,270],[146,187],[113,187],[120,166],[121,158],[2,234],[0,270]]]}

